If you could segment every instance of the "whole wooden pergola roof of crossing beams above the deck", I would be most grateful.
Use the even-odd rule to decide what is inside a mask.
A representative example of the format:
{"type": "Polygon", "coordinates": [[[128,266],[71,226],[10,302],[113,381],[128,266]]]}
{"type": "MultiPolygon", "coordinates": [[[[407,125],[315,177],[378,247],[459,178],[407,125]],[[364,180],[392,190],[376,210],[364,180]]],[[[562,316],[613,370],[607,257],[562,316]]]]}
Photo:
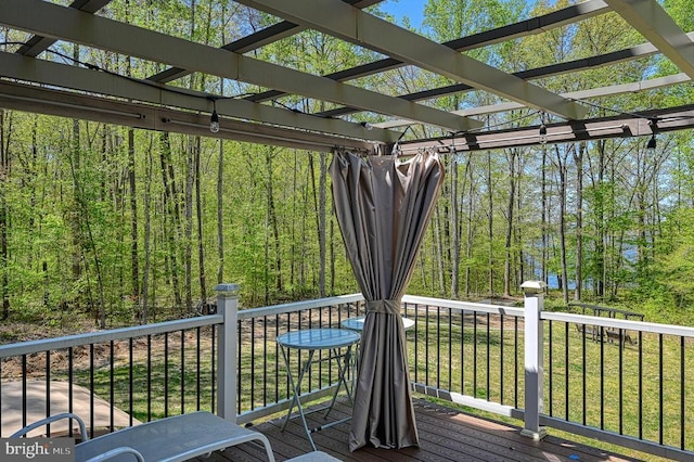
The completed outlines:
{"type": "Polygon", "coordinates": [[[74,0],[67,7],[42,0],[0,0],[0,25],[26,37],[18,43],[4,43],[5,51],[0,51],[0,107],[319,152],[335,146],[365,152],[393,146],[410,125],[436,127],[445,134],[403,141],[402,150],[437,146],[442,152],[651,136],[694,126],[692,104],[616,111],[611,117],[587,118],[590,102],[597,98],[692,85],[694,33],[683,31],[656,0],[587,0],[445,43],[370,14],[368,8],[380,0],[236,1],[278,20],[269,27],[215,48],[166,30],[145,29],[101,15],[100,11],[112,0],[74,0]],[[464,54],[609,14],[621,16],[645,41],[625,50],[514,74],[464,54]],[[305,29],[319,30],[385,57],[329,75],[312,75],[253,57],[250,53],[305,29]],[[66,64],[47,53],[59,40],[146,60],[164,70],[138,79],[104,72],[94,64],[66,64]],[[535,82],[656,53],[669,60],[679,73],[565,94],[548,91],[535,82]],[[374,91],[350,84],[406,65],[445,76],[455,84],[395,95],[385,89],[374,91]],[[176,85],[192,73],[267,90],[230,97],[176,85]],[[475,90],[496,94],[500,102],[454,112],[430,104],[438,98],[475,90]],[[331,108],[309,114],[269,103],[291,94],[323,101],[331,108]],[[485,127],[485,116],[520,108],[551,115],[553,121],[542,130],[539,124],[522,129],[485,127]],[[209,130],[213,112],[220,123],[219,131],[214,133],[209,130]],[[383,121],[355,121],[363,119],[363,115],[376,115],[383,121]]]}

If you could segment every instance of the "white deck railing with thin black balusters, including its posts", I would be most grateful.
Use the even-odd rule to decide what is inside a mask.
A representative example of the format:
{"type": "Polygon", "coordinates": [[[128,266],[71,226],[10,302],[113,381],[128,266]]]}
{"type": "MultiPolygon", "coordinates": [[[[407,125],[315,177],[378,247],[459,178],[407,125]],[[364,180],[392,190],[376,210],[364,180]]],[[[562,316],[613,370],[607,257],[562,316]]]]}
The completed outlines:
{"type": "MultiPolygon", "coordinates": [[[[339,326],[340,320],[362,313],[361,294],[239,310],[236,285],[220,284],[216,288],[216,315],[4,345],[0,346],[0,361],[24,358],[26,362],[26,358],[44,354],[48,364],[50,351],[81,346],[93,349],[99,344],[110,344],[113,351],[114,342],[121,341],[129,341],[132,351],[136,338],[216,326],[213,342],[202,354],[198,347],[197,352],[198,363],[201,355],[216,358],[213,370],[203,372],[215,377],[210,384],[215,388],[213,402],[203,406],[224,419],[246,423],[288,407],[286,371],[274,342],[280,333],[339,326]]],[[[403,315],[415,320],[407,341],[416,392],[520,419],[523,433],[532,438],[541,438],[547,427],[554,427],[672,459],[694,458],[694,385],[690,385],[694,329],[548,312],[543,310],[542,292],[532,290],[526,290],[524,307],[419,296],[406,296],[402,303],[403,315]],[[639,400],[642,402],[634,411],[639,400]],[[656,425],[646,422],[654,413],[656,425]],[[618,415],[618,423],[614,415],[618,415]],[[673,432],[677,437],[670,436],[673,432]]],[[[181,342],[182,369],[184,338],[176,338],[181,342]]],[[[301,390],[303,399],[332,393],[333,359],[325,361],[325,368],[301,390]]],[[[187,367],[191,362],[195,361],[185,360],[187,367]]],[[[44,375],[46,381],[56,376],[48,365],[44,375]]],[[[111,388],[114,406],[113,383],[111,388]]],[[[131,386],[131,393],[134,388],[131,386]]],[[[181,385],[181,410],[188,395],[211,393],[203,388],[191,392],[190,385],[185,389],[181,385]]],[[[90,389],[93,393],[95,387],[90,389]]],[[[147,407],[151,405],[147,402],[147,407]]]]}

